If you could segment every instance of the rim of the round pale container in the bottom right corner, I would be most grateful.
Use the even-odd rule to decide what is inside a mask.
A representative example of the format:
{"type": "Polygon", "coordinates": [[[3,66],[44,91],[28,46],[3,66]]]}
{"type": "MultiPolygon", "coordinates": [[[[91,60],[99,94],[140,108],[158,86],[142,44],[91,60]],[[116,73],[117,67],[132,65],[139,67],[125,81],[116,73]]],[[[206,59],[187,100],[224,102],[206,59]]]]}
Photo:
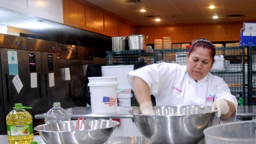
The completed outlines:
{"type": "MultiPolygon", "coordinates": [[[[207,128],[204,130],[204,135],[205,135],[205,132],[206,132],[206,131],[210,131],[211,129],[214,129],[215,127],[220,127],[220,126],[223,126],[223,125],[238,124],[238,123],[250,123],[250,122],[255,122],[255,123],[256,123],[256,121],[251,120],[251,121],[229,122],[229,123],[222,123],[222,124],[219,124],[219,125],[213,125],[213,126],[207,127],[207,128]]],[[[219,138],[220,138],[220,137],[213,136],[213,135],[207,135],[207,137],[211,137],[211,138],[215,138],[215,139],[219,139],[219,138]]],[[[244,141],[244,139],[225,138],[225,137],[221,137],[221,140],[227,140],[227,141],[244,141]]],[[[246,138],[246,141],[256,141],[256,139],[246,138]]]]}

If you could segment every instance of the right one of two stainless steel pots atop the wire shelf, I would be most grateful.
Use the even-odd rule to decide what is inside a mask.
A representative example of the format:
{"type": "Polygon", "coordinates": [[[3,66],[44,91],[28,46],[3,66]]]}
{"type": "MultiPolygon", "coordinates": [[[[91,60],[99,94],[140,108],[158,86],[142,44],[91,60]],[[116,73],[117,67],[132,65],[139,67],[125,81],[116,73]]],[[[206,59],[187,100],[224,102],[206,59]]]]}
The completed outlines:
{"type": "Polygon", "coordinates": [[[128,36],[129,50],[146,50],[148,36],[130,35],[128,36]]]}

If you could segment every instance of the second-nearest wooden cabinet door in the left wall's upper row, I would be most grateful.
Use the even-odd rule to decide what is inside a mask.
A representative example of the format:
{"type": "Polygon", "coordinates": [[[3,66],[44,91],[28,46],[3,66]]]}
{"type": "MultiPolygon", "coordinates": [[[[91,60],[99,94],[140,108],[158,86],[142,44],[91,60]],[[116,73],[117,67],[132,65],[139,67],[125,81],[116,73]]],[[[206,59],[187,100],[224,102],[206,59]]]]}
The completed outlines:
{"type": "Polygon", "coordinates": [[[104,31],[103,13],[86,6],[86,26],[95,30],[104,31]]]}

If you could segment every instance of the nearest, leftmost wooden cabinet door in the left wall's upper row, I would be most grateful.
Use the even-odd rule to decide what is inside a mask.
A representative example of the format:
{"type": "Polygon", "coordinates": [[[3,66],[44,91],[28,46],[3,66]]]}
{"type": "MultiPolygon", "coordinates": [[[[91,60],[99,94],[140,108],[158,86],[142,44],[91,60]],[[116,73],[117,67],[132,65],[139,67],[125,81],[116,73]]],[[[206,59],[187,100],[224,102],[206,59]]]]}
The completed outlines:
{"type": "Polygon", "coordinates": [[[85,26],[85,6],[70,0],[63,0],[64,24],[83,28],[85,26]]]}

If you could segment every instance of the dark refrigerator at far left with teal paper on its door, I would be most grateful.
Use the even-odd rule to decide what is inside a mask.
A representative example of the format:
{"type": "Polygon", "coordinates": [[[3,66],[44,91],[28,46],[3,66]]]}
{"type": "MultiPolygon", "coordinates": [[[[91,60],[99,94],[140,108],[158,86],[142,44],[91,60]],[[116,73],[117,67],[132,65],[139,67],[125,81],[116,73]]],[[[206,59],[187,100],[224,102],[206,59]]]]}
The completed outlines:
{"type": "Polygon", "coordinates": [[[33,107],[28,110],[33,116],[43,113],[41,52],[2,48],[1,65],[5,115],[15,103],[33,107]],[[20,84],[15,82],[17,76],[20,84]]]}

